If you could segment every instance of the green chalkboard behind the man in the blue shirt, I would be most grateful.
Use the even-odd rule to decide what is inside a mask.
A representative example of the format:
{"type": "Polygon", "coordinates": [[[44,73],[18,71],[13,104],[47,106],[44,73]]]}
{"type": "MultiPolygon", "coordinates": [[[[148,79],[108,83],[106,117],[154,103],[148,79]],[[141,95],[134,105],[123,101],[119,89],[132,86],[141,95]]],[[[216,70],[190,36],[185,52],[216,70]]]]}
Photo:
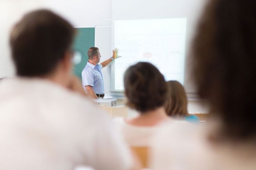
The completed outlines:
{"type": "Polygon", "coordinates": [[[88,61],[87,51],[95,46],[95,28],[76,28],[76,31],[73,44],[75,51],[73,73],[82,79],[81,73],[88,61]]]}

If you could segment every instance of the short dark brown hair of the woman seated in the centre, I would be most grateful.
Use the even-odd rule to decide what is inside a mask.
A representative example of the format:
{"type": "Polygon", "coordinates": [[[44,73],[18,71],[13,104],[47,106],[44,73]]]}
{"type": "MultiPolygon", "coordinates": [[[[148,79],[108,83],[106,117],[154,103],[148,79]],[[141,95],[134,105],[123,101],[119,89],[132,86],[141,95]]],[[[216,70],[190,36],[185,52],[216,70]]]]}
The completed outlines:
{"type": "Polygon", "coordinates": [[[167,86],[164,76],[150,63],[140,62],[130,66],[124,75],[127,105],[146,112],[164,105],[167,86]]]}

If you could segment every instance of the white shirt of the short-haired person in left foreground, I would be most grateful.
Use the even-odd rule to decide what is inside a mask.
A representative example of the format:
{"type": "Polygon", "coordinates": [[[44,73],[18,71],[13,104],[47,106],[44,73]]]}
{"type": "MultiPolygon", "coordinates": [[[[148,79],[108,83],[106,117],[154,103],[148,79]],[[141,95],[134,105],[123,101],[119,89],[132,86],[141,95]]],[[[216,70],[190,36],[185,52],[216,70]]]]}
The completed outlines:
{"type": "Polygon", "coordinates": [[[102,112],[47,80],[1,80],[0,169],[131,168],[128,147],[102,112]]]}

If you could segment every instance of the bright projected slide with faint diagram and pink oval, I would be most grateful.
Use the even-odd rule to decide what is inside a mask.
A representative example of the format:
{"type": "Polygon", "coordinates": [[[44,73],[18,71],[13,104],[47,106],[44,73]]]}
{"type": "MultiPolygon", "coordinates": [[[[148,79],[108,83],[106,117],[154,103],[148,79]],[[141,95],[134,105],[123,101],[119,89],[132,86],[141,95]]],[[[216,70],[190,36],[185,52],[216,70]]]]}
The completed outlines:
{"type": "Polygon", "coordinates": [[[185,39],[186,18],[114,21],[114,47],[122,57],[111,68],[112,90],[124,89],[124,72],[140,61],[155,65],[166,81],[183,84],[185,39]]]}

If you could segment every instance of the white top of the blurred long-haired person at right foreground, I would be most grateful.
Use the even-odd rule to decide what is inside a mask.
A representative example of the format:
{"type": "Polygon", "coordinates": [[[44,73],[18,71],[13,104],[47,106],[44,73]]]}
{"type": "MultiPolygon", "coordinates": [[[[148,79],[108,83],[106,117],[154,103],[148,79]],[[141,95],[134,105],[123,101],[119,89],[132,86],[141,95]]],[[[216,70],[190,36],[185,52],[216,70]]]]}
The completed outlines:
{"type": "Polygon", "coordinates": [[[209,141],[211,123],[175,122],[157,133],[152,170],[255,170],[256,144],[209,141]]]}

